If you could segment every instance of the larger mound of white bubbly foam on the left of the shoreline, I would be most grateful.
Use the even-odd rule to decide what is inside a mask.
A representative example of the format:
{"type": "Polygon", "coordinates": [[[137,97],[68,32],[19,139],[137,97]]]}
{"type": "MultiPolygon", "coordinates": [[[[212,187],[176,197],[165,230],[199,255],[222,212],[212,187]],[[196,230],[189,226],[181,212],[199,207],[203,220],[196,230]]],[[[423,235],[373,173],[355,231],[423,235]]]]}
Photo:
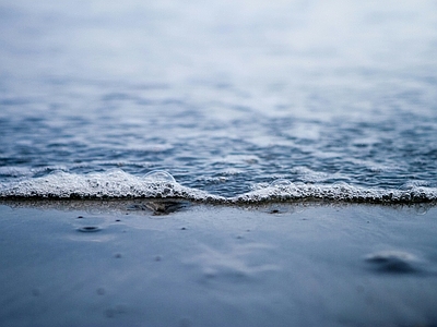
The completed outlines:
{"type": "Polygon", "coordinates": [[[120,169],[107,172],[75,174],[55,172],[2,185],[2,197],[55,198],[123,198],[123,197],[182,197],[187,199],[220,199],[206,192],[182,186],[165,171],[152,171],[143,178],[120,169]]]}

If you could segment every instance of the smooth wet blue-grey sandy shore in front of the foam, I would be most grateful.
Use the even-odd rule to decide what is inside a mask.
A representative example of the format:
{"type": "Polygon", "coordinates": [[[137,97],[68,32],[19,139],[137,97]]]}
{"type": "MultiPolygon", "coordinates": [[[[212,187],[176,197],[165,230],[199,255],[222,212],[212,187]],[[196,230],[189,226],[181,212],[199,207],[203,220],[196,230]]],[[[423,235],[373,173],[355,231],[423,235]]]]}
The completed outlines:
{"type": "Polygon", "coordinates": [[[436,326],[437,208],[0,203],[1,326],[436,326]]]}

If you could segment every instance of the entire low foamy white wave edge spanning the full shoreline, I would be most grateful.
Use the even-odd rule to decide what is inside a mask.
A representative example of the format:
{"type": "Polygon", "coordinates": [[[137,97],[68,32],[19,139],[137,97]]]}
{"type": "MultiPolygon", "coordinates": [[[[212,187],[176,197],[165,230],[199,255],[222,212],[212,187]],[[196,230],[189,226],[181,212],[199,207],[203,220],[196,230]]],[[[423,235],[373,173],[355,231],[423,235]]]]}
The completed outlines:
{"type": "Polygon", "coordinates": [[[5,183],[0,186],[0,198],[184,198],[235,204],[299,201],[413,204],[437,202],[437,189],[411,184],[402,189],[386,190],[361,187],[344,182],[294,183],[281,179],[249,193],[224,197],[184,186],[166,171],[157,170],[135,177],[115,169],[88,174],[60,171],[5,183]]]}

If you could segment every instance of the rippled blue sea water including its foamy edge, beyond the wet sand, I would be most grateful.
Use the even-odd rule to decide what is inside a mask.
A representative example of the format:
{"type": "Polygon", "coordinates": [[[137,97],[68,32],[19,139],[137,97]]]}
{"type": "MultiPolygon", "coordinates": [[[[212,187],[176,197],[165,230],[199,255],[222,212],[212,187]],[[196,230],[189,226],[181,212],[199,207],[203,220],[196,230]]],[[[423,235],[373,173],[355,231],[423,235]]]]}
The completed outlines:
{"type": "Polygon", "coordinates": [[[437,199],[435,1],[3,0],[0,17],[0,197],[437,199]]]}

